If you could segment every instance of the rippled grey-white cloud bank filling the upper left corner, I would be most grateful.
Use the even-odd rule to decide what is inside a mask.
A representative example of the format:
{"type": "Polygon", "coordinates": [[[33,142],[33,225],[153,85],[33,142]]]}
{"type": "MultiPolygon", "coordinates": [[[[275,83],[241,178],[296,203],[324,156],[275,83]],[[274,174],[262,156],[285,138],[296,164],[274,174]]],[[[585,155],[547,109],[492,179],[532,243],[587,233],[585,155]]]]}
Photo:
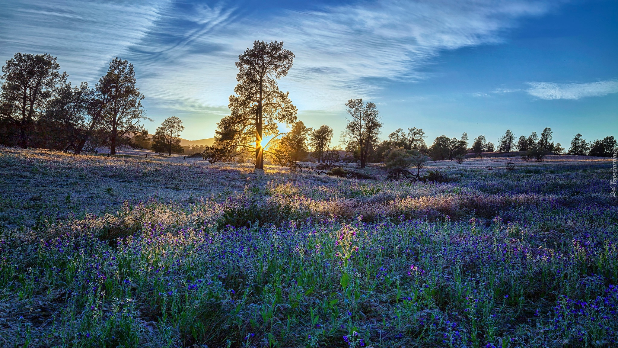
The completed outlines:
{"type": "Polygon", "coordinates": [[[0,2],[0,56],[51,53],[74,82],[100,69],[145,37],[167,0],[0,2]]]}

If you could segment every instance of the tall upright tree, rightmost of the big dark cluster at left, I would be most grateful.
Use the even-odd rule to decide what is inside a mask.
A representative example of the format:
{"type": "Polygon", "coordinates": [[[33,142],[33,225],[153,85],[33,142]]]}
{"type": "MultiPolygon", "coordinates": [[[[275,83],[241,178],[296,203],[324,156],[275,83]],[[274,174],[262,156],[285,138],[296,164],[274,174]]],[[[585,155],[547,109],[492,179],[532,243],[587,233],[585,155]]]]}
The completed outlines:
{"type": "Polygon", "coordinates": [[[142,131],[140,121],[150,120],[143,110],[144,96],[135,82],[133,64],[116,57],[96,84],[103,103],[102,126],[112,155],[116,154],[116,146],[127,144],[131,136],[142,131]]]}

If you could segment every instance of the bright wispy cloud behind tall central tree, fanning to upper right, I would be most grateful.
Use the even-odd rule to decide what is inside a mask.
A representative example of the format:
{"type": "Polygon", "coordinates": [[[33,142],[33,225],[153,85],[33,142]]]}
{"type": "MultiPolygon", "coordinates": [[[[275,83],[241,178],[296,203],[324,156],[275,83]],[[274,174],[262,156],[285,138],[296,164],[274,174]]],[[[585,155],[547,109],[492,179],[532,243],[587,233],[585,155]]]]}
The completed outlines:
{"type": "Polygon", "coordinates": [[[371,97],[385,82],[424,79],[421,70],[441,51],[500,42],[501,31],[516,19],[548,9],[539,1],[391,0],[284,11],[269,19],[240,17],[219,7],[201,9],[210,17],[174,11],[163,14],[142,41],[150,46],[173,28],[173,49],[162,51],[173,52],[174,63],[165,60],[162,69],[159,54],[143,58],[152,68],[149,85],[164,80],[174,86],[167,97],[179,94],[226,105],[238,54],[255,39],[282,40],[296,55],[282,88],[290,90],[298,107],[319,110],[340,107],[347,98],[371,97]],[[208,30],[196,29],[200,26],[208,30]]]}

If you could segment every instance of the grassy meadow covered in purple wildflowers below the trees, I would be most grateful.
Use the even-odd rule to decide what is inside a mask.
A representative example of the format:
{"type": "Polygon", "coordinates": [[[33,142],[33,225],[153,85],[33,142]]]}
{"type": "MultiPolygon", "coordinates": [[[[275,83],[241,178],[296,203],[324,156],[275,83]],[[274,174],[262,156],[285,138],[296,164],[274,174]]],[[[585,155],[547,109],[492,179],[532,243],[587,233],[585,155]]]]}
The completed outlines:
{"type": "Polygon", "coordinates": [[[0,346],[617,345],[611,160],[150,157],[0,148],[0,346]]]}

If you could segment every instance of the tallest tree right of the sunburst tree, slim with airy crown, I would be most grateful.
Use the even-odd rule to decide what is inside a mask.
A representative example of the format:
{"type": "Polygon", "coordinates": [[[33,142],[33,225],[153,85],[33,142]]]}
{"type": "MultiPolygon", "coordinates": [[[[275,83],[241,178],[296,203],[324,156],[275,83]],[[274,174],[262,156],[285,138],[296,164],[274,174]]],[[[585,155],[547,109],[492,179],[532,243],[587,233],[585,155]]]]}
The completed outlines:
{"type": "Polygon", "coordinates": [[[350,99],[345,106],[350,117],[341,137],[350,148],[358,149],[360,167],[365,168],[369,149],[378,141],[382,127],[379,111],[375,103],[363,103],[362,99],[350,99]]]}

